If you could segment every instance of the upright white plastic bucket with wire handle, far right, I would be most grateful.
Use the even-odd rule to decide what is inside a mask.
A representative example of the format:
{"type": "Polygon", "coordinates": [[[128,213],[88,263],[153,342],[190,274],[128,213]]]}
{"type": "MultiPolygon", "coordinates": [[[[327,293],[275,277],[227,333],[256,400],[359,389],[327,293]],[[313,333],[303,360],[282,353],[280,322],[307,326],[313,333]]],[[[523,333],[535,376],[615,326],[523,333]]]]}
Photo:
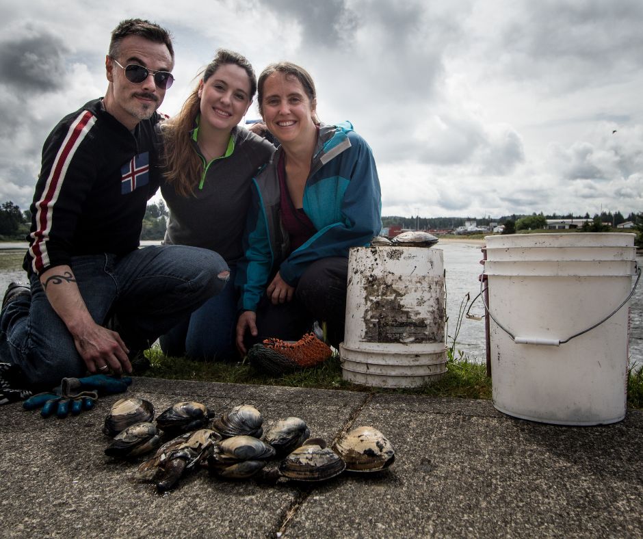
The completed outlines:
{"type": "Polygon", "coordinates": [[[623,419],[634,235],[485,239],[495,408],[562,425],[623,419]]]}

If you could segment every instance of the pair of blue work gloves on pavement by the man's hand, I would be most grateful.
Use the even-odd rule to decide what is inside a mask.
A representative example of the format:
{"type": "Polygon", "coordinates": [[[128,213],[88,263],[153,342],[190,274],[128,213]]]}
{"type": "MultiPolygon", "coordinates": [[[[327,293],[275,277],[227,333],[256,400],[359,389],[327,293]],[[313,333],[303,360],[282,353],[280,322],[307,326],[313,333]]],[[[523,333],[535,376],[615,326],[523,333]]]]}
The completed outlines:
{"type": "Polygon", "coordinates": [[[36,410],[42,406],[40,415],[67,417],[69,413],[78,415],[83,410],[91,410],[99,395],[113,395],[127,391],[132,383],[129,376],[114,378],[106,374],[95,374],[85,378],[63,378],[60,387],[50,393],[39,393],[29,397],[24,403],[25,410],[36,410]]]}

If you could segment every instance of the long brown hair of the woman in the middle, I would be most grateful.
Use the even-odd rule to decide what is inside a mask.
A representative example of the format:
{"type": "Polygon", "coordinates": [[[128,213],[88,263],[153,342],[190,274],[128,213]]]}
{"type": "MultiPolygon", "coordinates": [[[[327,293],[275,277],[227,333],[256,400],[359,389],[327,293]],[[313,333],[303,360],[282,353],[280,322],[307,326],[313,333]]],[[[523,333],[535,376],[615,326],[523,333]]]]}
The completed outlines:
{"type": "Polygon", "coordinates": [[[201,81],[205,83],[218,68],[226,64],[239,66],[248,73],[249,97],[252,101],[254,93],[257,92],[257,76],[254,75],[252,65],[239,53],[218,49],[214,60],[203,71],[196,88],[183,103],[179,114],[163,122],[161,126],[164,146],[163,166],[165,167],[163,176],[181,196],[189,196],[194,192],[194,187],[198,185],[203,170],[203,163],[192,148],[192,140],[190,140],[190,131],[194,128],[201,106],[201,98],[198,96],[201,81]]]}

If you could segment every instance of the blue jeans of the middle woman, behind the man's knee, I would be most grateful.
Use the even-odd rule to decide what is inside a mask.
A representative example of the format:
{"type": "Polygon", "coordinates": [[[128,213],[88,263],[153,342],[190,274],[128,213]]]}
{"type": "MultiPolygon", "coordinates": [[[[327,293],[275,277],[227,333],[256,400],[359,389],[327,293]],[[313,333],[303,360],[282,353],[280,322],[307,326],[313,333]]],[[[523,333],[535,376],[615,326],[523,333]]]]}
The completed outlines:
{"type": "Polygon", "coordinates": [[[161,335],[161,350],[168,356],[231,360],[238,358],[235,345],[237,301],[234,287],[237,267],[230,266],[230,280],[223,291],[210,298],[194,313],[161,335]]]}

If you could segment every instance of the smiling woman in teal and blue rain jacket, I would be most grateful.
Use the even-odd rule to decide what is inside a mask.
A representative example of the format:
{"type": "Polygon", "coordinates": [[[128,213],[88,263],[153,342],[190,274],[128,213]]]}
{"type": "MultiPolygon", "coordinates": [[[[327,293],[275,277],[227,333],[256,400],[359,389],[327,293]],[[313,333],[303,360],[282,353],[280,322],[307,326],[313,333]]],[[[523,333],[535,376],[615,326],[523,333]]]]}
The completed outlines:
{"type": "Polygon", "coordinates": [[[259,76],[259,111],[280,147],[252,181],[237,266],[237,347],[297,341],[325,321],[343,340],[348,250],[382,228],[380,181],[371,148],[350,122],[315,112],[313,79],[300,66],[272,64],[259,76]]]}

